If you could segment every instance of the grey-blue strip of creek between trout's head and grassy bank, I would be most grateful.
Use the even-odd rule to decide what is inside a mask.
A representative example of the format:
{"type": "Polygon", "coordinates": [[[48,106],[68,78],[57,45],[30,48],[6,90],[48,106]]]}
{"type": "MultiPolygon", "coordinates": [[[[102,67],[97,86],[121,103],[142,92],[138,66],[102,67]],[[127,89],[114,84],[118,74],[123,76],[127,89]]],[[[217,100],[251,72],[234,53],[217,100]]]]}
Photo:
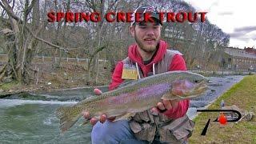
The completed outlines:
{"type": "Polygon", "coordinates": [[[226,90],[229,90],[231,86],[237,82],[240,82],[243,77],[244,76],[242,75],[209,77],[209,90],[207,90],[206,94],[203,94],[201,97],[190,100],[190,108],[186,114],[189,116],[189,118],[193,119],[197,114],[197,109],[204,109],[207,105],[220,97],[226,90]]]}

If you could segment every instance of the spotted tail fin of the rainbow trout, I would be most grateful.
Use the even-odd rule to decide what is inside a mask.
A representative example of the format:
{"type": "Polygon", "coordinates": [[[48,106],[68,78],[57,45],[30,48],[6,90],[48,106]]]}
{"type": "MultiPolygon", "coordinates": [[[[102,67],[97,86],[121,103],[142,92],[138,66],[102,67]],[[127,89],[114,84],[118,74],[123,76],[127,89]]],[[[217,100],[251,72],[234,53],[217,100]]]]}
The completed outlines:
{"type": "Polygon", "coordinates": [[[65,132],[82,116],[74,109],[74,106],[62,106],[55,111],[56,117],[60,119],[60,130],[65,132]]]}

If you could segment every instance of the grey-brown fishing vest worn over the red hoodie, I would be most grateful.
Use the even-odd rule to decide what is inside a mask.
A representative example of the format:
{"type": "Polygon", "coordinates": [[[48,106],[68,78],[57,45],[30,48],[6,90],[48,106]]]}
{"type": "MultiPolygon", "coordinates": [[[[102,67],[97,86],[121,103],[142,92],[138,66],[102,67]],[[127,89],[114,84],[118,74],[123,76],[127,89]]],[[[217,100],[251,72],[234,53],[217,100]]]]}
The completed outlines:
{"type": "MultiPolygon", "coordinates": [[[[176,50],[167,50],[162,60],[155,63],[155,74],[167,72],[175,54],[180,53],[176,50]]],[[[135,65],[128,57],[122,62],[135,65]]],[[[143,78],[141,70],[139,74],[143,78]]],[[[194,129],[194,122],[186,114],[182,118],[170,119],[161,113],[152,114],[150,110],[135,114],[129,123],[135,137],[148,142],[159,138],[161,142],[182,143],[192,135],[194,129]]]]}

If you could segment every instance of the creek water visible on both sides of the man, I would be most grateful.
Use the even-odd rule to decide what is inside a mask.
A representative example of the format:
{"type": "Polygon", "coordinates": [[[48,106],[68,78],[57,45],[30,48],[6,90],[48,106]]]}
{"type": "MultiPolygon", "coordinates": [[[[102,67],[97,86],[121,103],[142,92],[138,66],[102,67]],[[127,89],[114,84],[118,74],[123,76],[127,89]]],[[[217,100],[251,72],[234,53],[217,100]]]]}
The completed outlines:
{"type": "MultiPolygon", "coordinates": [[[[191,100],[187,114],[192,118],[194,109],[206,106],[241,79],[242,76],[210,77],[211,90],[191,100]]],[[[92,91],[92,88],[58,90],[0,99],[0,143],[90,143],[92,126],[79,126],[81,118],[70,130],[60,134],[54,110],[87,98],[92,91]]]]}

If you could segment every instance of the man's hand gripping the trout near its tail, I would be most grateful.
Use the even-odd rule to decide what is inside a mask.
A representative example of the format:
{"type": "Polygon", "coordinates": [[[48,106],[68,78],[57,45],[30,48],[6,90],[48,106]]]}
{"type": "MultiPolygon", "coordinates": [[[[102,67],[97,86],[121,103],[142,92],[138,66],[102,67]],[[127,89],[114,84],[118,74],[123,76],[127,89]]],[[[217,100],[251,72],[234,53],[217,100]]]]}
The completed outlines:
{"type": "MultiPolygon", "coordinates": [[[[94,89],[94,93],[97,94],[97,95],[100,95],[100,94],[102,94],[102,90],[94,89]]],[[[90,118],[90,113],[89,113],[88,111],[84,111],[84,112],[82,112],[82,114],[83,114],[83,117],[84,117],[85,119],[90,119],[90,124],[93,125],[93,126],[94,126],[98,121],[99,121],[99,122],[102,122],[102,123],[106,122],[106,119],[108,119],[108,120],[110,120],[110,121],[114,121],[114,117],[107,118],[107,117],[106,117],[106,114],[102,114],[99,119],[98,119],[98,118],[90,118]]]]}

